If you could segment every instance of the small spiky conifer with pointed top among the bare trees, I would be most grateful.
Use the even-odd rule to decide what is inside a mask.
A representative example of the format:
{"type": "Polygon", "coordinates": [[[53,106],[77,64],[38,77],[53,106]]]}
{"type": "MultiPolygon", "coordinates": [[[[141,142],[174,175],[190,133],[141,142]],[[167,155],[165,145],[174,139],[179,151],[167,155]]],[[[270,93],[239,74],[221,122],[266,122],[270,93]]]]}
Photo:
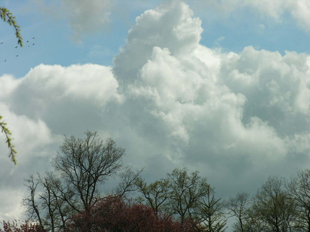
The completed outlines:
{"type": "Polygon", "coordinates": [[[214,188],[209,187],[207,199],[201,202],[202,224],[200,224],[199,231],[208,232],[224,232],[227,229],[224,216],[224,204],[220,202],[221,198],[215,199],[214,188]]]}

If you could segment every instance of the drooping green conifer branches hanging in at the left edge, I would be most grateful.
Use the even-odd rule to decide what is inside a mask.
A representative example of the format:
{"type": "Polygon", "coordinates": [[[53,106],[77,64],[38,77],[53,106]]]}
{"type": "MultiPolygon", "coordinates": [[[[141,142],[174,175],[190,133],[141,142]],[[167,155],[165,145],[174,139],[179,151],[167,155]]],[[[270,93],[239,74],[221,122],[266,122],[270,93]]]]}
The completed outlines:
{"type": "MultiPolygon", "coordinates": [[[[10,26],[13,26],[15,29],[15,35],[18,39],[17,44],[19,44],[21,47],[23,46],[23,38],[20,36],[20,26],[17,24],[15,20],[15,16],[12,15],[12,13],[4,7],[0,7],[0,17],[4,22],[7,22],[10,24],[10,26]]],[[[2,119],[2,116],[0,114],[0,120],[2,119]]],[[[6,137],[6,143],[9,148],[9,157],[11,157],[11,160],[14,162],[16,165],[16,150],[14,149],[14,146],[11,144],[11,132],[7,128],[7,123],[4,121],[0,121],[0,128],[1,128],[1,133],[4,133],[6,137]]]]}

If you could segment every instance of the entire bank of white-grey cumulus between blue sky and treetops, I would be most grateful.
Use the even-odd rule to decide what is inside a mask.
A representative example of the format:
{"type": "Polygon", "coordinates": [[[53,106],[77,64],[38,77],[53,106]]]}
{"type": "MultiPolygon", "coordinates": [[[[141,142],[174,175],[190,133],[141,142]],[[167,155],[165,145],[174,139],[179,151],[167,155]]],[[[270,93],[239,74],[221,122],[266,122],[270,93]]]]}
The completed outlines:
{"type": "Polygon", "coordinates": [[[5,178],[20,186],[21,176],[47,170],[62,135],[87,129],[115,138],[147,180],[188,166],[224,198],[305,167],[309,56],[222,52],[199,44],[202,30],[188,5],[165,3],[136,18],[113,67],[40,64],[20,79],[2,75],[0,112],[25,162],[6,174],[7,158],[5,178]]]}

